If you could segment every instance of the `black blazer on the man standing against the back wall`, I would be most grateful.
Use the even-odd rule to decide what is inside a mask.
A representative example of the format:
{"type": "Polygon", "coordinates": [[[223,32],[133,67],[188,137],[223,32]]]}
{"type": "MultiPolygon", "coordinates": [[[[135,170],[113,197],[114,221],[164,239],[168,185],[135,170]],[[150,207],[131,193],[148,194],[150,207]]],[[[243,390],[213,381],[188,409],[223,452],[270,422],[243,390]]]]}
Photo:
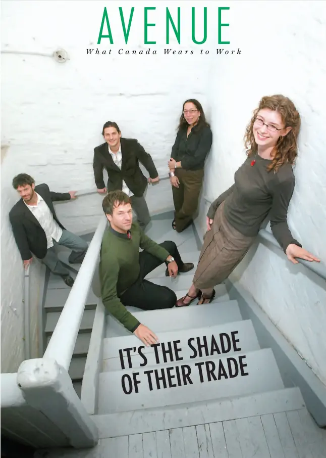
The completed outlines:
{"type": "Polygon", "coordinates": [[[136,197],[143,196],[147,179],[139,167],[139,161],[144,165],[151,178],[158,175],[151,156],[136,139],[120,139],[122,165],[120,168],[114,163],[111,154],[108,152],[107,143],[94,148],[93,169],[97,189],[105,188],[103,181],[103,169],[108,175],[107,191],[122,190],[122,180],[136,197]]]}

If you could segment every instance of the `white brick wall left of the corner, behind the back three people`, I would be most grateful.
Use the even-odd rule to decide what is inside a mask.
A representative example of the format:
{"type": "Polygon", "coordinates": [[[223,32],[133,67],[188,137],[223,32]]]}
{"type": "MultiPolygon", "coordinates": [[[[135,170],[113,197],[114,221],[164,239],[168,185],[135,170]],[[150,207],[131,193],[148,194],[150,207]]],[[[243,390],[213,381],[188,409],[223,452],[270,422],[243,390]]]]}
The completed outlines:
{"type": "MultiPolygon", "coordinates": [[[[136,7],[128,48],[153,49],[141,44],[143,27],[136,28],[148,4],[109,4],[57,0],[2,3],[2,50],[36,53],[2,55],[2,145],[10,146],[2,164],[1,189],[2,372],[16,371],[23,358],[23,270],[8,220],[8,212],[17,200],[11,189],[13,176],[29,173],[37,184],[46,182],[58,192],[95,188],[93,149],[103,143],[101,130],[108,120],[118,123],[123,136],[137,138],[151,154],[159,175],[166,176],[184,100],[199,99],[209,115],[207,84],[211,61],[200,56],[162,55],[164,48],[173,48],[173,39],[168,47],[161,41],[156,56],[86,54],[86,48],[127,49],[121,26],[117,26],[119,6],[123,6],[126,15],[131,6],[136,7]],[[114,47],[105,39],[96,45],[104,7],[110,12],[114,47]],[[68,52],[67,63],[37,55],[51,54],[57,48],[68,52]],[[14,305],[10,306],[11,302],[14,305]]],[[[171,12],[176,12],[177,6],[182,6],[182,20],[191,24],[191,6],[196,2],[180,2],[177,6],[175,2],[152,4],[157,10],[150,12],[149,22],[157,26],[149,39],[155,36],[158,41],[165,36],[165,21],[158,19],[165,14],[165,8],[169,6],[171,12]]],[[[208,21],[210,31],[214,30],[214,18],[208,17],[208,21]]],[[[187,30],[182,35],[184,50],[191,49],[191,28],[187,30]]],[[[199,38],[201,30],[196,30],[199,38]]],[[[206,47],[213,38],[210,33],[206,47]]],[[[150,210],[171,207],[169,182],[149,188],[147,201],[150,210]]],[[[85,196],[60,203],[57,212],[68,230],[78,234],[92,231],[102,214],[101,197],[85,196]]],[[[38,285],[32,286],[31,294],[36,296],[37,290],[38,285]]]]}

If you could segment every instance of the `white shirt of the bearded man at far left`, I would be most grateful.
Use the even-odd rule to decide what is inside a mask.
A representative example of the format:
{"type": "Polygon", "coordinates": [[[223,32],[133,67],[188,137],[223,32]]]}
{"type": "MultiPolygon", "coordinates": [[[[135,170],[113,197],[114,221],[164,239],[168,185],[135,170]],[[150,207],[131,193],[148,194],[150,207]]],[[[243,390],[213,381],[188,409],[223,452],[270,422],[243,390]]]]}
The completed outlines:
{"type": "Polygon", "coordinates": [[[42,196],[37,194],[37,203],[36,205],[28,205],[24,201],[26,207],[33,213],[37,221],[40,223],[43,231],[46,235],[47,248],[53,246],[53,240],[59,242],[62,236],[62,228],[59,226],[57,221],[53,218],[51,210],[46,205],[42,196]]]}

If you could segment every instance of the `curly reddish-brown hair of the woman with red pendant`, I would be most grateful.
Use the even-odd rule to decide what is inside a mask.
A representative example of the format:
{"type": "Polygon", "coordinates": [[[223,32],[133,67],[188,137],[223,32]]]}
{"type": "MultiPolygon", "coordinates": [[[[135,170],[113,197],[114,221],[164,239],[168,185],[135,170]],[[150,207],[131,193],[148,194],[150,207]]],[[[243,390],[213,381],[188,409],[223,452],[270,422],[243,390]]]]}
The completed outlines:
{"type": "Polygon", "coordinates": [[[257,144],[253,135],[253,124],[258,111],[263,108],[277,111],[280,113],[285,126],[292,127],[285,136],[280,136],[278,139],[273,160],[267,166],[268,171],[274,170],[277,172],[284,163],[289,162],[292,165],[295,163],[295,158],[298,155],[297,139],[301,125],[300,115],[294,103],[288,97],[282,95],[263,97],[259,102],[258,108],[254,110],[253,116],[246,128],[244,142],[247,156],[252,156],[257,152],[257,144]]]}

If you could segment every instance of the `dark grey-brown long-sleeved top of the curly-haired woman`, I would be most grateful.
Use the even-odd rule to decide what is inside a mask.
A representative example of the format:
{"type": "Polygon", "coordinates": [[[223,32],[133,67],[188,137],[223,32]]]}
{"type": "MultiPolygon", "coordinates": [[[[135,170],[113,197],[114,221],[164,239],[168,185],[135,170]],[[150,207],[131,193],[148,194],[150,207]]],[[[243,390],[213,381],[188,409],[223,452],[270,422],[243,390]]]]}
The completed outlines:
{"type": "Polygon", "coordinates": [[[291,164],[283,164],[274,173],[266,167],[271,163],[256,155],[256,163],[248,157],[234,175],[234,185],[219,196],[210,206],[207,216],[211,219],[219,205],[225,201],[224,213],[229,223],[244,236],[258,234],[267,215],[274,237],[285,251],[290,243],[300,245],[292,237],[287,223],[288,206],[295,180],[291,164]]]}

